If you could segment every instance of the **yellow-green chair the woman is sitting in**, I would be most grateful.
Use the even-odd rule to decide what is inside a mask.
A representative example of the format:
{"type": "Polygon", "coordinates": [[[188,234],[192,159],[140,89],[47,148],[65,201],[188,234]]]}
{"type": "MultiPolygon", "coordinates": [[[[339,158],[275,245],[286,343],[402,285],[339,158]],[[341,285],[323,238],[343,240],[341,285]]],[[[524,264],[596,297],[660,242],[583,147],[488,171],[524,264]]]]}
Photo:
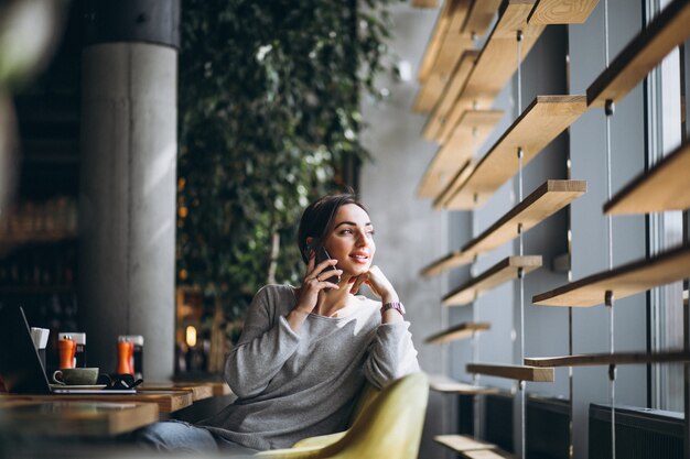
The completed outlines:
{"type": "Polygon", "coordinates": [[[429,381],[424,373],[401,378],[384,390],[368,385],[349,429],[305,438],[289,449],[259,452],[273,459],[414,459],[424,425],[429,381]]]}

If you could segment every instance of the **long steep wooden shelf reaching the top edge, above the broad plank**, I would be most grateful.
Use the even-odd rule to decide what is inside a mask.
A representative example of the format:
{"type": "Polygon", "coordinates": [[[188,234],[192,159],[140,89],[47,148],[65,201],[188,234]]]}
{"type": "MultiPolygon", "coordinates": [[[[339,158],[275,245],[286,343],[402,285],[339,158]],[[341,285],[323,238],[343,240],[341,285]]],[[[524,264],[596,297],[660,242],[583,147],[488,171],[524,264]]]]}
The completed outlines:
{"type": "Polygon", "coordinates": [[[472,108],[488,109],[517,70],[517,31],[522,31],[522,59],[527,57],[545,25],[527,24],[536,0],[507,0],[500,7],[498,21],[467,77],[461,96],[449,111],[443,128],[434,135],[445,143],[462,114],[472,108]]]}

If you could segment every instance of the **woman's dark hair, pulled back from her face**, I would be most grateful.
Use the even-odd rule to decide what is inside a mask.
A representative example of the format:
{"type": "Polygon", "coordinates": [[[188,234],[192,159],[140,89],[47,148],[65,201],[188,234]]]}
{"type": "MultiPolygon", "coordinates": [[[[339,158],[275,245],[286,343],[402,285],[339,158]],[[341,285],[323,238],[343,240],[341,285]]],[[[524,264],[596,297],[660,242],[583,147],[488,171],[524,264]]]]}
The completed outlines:
{"type": "Polygon", "coordinates": [[[349,193],[326,195],[304,209],[304,214],[302,214],[300,219],[300,229],[298,230],[298,247],[304,263],[309,262],[306,238],[314,238],[309,249],[317,248],[333,229],[333,218],[337,214],[337,209],[348,204],[359,206],[365,212],[367,211],[366,207],[357,200],[357,197],[349,193]]]}

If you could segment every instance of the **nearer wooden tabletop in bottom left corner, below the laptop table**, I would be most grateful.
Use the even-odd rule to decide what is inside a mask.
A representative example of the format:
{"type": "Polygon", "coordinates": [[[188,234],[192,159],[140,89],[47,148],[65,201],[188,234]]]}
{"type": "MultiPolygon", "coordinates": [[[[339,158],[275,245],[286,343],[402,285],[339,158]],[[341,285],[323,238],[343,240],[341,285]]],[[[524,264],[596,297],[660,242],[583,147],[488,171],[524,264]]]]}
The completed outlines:
{"type": "Polygon", "coordinates": [[[0,429],[32,436],[105,437],[159,419],[154,403],[93,401],[0,401],[0,429]]]}

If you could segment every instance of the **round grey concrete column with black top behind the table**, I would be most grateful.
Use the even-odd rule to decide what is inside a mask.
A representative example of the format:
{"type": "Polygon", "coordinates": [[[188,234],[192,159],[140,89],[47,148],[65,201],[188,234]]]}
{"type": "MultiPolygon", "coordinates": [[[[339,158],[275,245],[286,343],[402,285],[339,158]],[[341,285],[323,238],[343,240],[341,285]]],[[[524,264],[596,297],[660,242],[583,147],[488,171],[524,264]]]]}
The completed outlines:
{"type": "Polygon", "coordinates": [[[125,3],[133,13],[87,14],[79,310],[89,364],[114,372],[117,336],[142,335],[144,376],[161,381],[174,370],[177,52],[141,40],[147,31],[137,24],[155,20],[157,11],[136,10],[151,2],[125,3]],[[131,21],[136,33],[121,24],[99,28],[99,20],[131,21]]]}

